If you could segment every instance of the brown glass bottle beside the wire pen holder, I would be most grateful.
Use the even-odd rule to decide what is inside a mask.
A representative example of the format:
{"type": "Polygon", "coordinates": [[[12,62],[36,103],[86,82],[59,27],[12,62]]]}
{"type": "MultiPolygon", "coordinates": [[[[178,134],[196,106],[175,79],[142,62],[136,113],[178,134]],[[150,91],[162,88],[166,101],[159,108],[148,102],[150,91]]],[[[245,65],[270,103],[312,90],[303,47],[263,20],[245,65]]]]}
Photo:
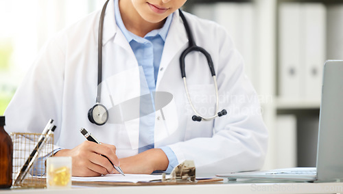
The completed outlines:
{"type": "Polygon", "coordinates": [[[0,188],[12,186],[13,143],[5,132],[5,117],[0,116],[0,188]]]}

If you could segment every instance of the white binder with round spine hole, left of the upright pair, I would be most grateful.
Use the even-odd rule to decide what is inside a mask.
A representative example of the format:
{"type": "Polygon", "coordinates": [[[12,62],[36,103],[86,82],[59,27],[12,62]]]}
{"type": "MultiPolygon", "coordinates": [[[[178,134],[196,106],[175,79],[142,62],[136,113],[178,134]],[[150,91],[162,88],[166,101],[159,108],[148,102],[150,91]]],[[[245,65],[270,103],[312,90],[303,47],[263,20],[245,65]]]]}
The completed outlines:
{"type": "Polygon", "coordinates": [[[279,96],[300,98],[300,3],[281,3],[279,16],[279,96]]]}

